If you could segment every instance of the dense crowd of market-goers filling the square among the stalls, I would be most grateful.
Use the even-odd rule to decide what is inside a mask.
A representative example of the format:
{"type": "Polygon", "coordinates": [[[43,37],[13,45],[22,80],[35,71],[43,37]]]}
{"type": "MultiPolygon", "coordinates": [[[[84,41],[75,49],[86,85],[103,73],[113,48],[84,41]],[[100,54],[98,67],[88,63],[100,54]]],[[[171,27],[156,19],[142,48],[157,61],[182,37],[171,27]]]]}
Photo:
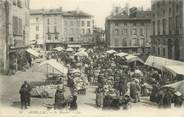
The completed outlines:
{"type": "MultiPolygon", "coordinates": [[[[168,79],[158,70],[147,68],[141,63],[128,63],[125,57],[116,56],[114,53],[109,54],[94,49],[85,51],[88,56],[76,56],[74,51],[55,51],[47,54],[47,59],[54,58],[67,65],[69,69],[68,86],[73,92],[72,98],[66,100],[63,89],[58,87],[55,94],[56,107],[70,105],[71,109],[77,109],[77,94],[79,92],[74,79],[85,82],[85,85],[97,86],[96,106],[99,108],[119,109],[122,106],[127,109],[131,102],[140,102],[142,96],[150,96],[150,100],[158,103],[159,107],[168,108],[171,107],[171,103],[174,103],[176,107],[182,106],[183,96],[180,92],[170,91],[167,88],[162,89],[168,83],[168,79]],[[79,74],[76,75],[70,72],[75,70],[80,73],[77,72],[79,74]]],[[[28,98],[26,101],[24,100],[25,92],[25,89],[21,88],[22,105],[29,102],[28,98]]]]}

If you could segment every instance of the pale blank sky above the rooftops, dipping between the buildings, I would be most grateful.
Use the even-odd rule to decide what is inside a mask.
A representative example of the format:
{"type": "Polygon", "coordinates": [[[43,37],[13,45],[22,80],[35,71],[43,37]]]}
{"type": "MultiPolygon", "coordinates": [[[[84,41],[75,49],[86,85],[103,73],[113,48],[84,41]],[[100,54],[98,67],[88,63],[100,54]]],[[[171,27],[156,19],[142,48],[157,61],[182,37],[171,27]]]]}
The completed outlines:
{"type": "Polygon", "coordinates": [[[151,0],[30,0],[31,9],[51,9],[62,7],[64,11],[80,10],[94,16],[95,24],[104,28],[105,18],[110,15],[113,6],[124,7],[126,3],[129,7],[143,6],[150,8],[151,0]]]}

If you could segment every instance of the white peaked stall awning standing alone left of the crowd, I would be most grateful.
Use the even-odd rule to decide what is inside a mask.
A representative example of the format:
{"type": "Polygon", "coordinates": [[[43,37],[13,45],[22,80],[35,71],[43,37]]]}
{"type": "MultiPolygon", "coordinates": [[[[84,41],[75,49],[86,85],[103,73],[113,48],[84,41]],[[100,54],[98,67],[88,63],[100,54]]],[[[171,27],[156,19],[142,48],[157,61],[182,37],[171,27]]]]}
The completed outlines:
{"type": "Polygon", "coordinates": [[[61,64],[61,63],[59,63],[59,62],[57,62],[56,60],[54,60],[54,59],[51,59],[51,60],[48,60],[48,61],[44,61],[43,63],[41,63],[40,65],[39,65],[39,67],[41,68],[42,67],[42,70],[43,71],[45,71],[45,70],[50,70],[50,71],[48,71],[48,72],[55,72],[55,70],[57,71],[57,72],[60,72],[60,73],[62,73],[63,75],[67,75],[67,73],[68,73],[68,68],[67,67],[65,67],[63,64],[61,64]],[[47,65],[47,67],[45,66],[45,65],[47,65]],[[45,68],[45,69],[44,69],[45,68]]]}

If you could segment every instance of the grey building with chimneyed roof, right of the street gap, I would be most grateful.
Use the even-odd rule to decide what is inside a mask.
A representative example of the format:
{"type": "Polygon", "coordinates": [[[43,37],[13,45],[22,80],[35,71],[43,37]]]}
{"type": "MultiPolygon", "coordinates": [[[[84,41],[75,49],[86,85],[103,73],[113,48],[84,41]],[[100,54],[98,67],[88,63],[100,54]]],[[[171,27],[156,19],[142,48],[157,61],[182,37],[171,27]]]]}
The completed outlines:
{"type": "Polygon", "coordinates": [[[116,14],[106,18],[106,39],[109,48],[128,53],[149,53],[151,12],[137,11],[136,15],[116,14]]]}

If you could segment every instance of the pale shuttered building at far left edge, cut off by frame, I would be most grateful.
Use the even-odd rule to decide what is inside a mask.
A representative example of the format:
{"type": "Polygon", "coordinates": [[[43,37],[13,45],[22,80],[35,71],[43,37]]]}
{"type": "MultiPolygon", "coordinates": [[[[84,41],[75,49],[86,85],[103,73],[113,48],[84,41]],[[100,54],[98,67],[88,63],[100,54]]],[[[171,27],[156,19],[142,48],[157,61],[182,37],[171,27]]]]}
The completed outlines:
{"type": "Polygon", "coordinates": [[[19,53],[28,44],[29,0],[1,1],[0,12],[0,69],[7,73],[12,67],[19,68],[19,53]]]}

